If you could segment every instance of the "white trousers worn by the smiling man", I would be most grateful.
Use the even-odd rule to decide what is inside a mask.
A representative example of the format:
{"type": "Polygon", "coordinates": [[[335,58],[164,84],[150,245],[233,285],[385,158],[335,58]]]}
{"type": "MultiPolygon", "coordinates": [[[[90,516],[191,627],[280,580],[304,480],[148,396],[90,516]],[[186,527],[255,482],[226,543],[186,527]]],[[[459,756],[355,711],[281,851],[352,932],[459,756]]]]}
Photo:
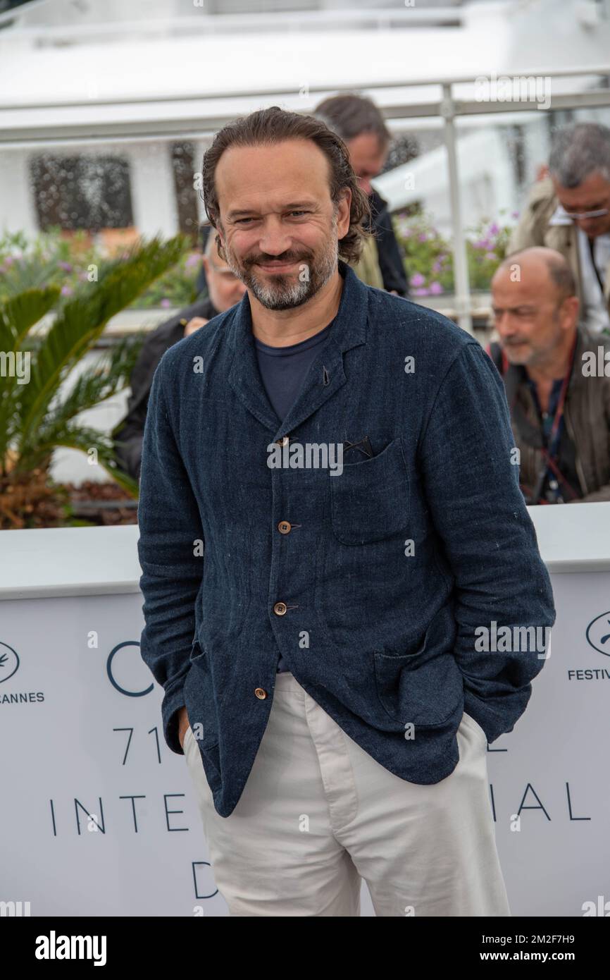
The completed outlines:
{"type": "Polygon", "coordinates": [[[487,739],[464,714],[459,762],[431,786],[389,772],[292,673],[273,705],[237,807],[213,807],[189,728],[184,753],[211,869],[231,915],[510,915],[495,848],[487,739]]]}

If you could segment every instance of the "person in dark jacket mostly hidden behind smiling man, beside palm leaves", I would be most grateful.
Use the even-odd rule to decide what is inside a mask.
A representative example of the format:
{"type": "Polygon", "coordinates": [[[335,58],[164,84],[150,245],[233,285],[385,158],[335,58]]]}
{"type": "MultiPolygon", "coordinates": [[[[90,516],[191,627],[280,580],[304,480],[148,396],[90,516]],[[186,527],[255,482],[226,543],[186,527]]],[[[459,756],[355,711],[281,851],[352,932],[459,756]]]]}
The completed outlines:
{"type": "Polygon", "coordinates": [[[202,256],[208,296],[180,310],[161,323],[146,338],[131,373],[131,395],[127,415],[114,431],[118,465],[133,479],[140,478],[142,440],[153,375],[165,351],[183,337],[204,326],[208,320],[239,303],[246,287],[223,262],[216,251],[214,236],[208,235],[202,256]]]}

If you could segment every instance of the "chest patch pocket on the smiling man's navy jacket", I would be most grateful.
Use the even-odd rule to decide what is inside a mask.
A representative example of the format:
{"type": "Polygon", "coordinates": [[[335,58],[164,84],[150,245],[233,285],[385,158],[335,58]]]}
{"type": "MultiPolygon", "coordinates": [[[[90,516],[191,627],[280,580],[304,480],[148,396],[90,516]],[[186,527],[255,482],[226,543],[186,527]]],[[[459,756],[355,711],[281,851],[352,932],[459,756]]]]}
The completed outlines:
{"type": "Polygon", "coordinates": [[[343,544],[382,541],[406,528],[409,481],[399,439],[328,479],[333,533],[343,544]]]}

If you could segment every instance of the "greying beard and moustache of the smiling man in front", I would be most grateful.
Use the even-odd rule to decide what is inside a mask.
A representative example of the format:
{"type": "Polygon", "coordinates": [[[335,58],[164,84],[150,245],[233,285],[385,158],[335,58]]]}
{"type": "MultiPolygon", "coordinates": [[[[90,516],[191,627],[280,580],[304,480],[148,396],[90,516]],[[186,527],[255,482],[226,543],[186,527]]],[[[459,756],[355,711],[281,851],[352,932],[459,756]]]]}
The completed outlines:
{"type": "MultiPolygon", "coordinates": [[[[292,310],[302,306],[314,296],[322,286],[326,285],[331,275],[337,270],[339,260],[339,241],[337,238],[328,240],[324,251],[313,256],[309,261],[301,256],[287,253],[283,256],[258,255],[249,258],[247,265],[238,265],[237,260],[225,247],[226,264],[244,285],[252,290],[261,306],[267,310],[292,310]],[[264,280],[257,270],[256,262],[295,262],[297,270],[290,273],[272,275],[272,281],[264,280]]],[[[264,274],[264,273],[262,273],[264,274]]]]}

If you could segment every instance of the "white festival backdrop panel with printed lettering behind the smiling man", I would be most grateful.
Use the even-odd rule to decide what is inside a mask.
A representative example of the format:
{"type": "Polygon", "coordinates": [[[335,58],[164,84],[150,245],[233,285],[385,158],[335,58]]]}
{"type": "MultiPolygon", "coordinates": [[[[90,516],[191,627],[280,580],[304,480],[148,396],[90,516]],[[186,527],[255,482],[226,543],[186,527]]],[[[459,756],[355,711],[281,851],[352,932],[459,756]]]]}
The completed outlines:
{"type": "MultiPolygon", "coordinates": [[[[610,902],[610,572],[552,580],[551,656],[488,753],[513,915],[610,902]]],[[[139,593],[0,603],[0,901],[33,916],[227,914],[186,762],[164,744],[141,606],[139,593]]]]}

